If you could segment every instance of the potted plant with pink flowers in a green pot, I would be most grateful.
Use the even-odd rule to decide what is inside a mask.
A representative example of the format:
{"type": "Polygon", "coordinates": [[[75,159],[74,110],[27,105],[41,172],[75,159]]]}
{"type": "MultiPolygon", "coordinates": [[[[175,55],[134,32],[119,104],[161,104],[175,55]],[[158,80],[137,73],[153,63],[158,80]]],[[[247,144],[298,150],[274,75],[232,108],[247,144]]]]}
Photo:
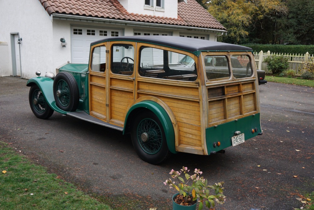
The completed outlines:
{"type": "Polygon", "coordinates": [[[164,182],[165,185],[169,185],[170,188],[175,188],[179,191],[179,193],[173,196],[174,210],[196,209],[197,199],[199,199],[199,210],[203,209],[204,202],[208,208],[214,207],[215,202],[220,204],[225,202],[225,196],[222,194],[224,189],[222,185],[224,182],[208,185],[208,181],[200,177],[203,173],[200,169],[195,169],[193,175],[189,175],[189,171],[184,166],[180,171],[172,169],[169,173],[171,178],[164,182]],[[211,191],[214,191],[214,194],[211,191]]]}

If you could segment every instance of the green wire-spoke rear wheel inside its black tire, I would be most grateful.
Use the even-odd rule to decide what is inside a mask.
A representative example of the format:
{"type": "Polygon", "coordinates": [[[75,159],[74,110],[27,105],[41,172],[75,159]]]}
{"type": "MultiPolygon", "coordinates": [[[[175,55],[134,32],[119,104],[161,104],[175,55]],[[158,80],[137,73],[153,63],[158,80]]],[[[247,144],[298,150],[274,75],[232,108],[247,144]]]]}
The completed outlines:
{"type": "Polygon", "coordinates": [[[138,142],[148,154],[156,154],[162,144],[162,135],[159,125],[152,119],[143,119],[138,124],[138,142]]]}

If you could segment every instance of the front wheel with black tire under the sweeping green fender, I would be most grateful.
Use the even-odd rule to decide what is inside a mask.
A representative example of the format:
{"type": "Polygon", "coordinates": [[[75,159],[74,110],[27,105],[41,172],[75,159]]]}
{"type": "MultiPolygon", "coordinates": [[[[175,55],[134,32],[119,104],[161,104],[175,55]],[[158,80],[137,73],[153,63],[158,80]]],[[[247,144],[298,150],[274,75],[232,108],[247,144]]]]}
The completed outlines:
{"type": "Polygon", "coordinates": [[[28,95],[30,108],[36,117],[40,119],[48,119],[53,114],[53,109],[50,108],[46,99],[37,85],[30,87],[28,95]]]}

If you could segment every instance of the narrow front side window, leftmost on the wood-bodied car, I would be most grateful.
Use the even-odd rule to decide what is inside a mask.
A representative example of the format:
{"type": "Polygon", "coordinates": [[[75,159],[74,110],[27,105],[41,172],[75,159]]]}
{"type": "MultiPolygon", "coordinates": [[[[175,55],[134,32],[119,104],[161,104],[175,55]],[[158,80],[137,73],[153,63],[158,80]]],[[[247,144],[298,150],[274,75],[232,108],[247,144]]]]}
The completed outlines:
{"type": "Polygon", "coordinates": [[[106,46],[95,47],[92,54],[92,71],[105,72],[106,70],[106,46]]]}

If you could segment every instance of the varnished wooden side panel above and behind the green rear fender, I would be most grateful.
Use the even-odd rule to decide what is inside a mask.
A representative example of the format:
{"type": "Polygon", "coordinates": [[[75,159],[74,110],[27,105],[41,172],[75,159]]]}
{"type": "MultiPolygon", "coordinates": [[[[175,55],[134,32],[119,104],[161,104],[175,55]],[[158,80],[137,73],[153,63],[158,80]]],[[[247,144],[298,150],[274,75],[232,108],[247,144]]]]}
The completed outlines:
{"type": "Polygon", "coordinates": [[[158,84],[153,81],[138,81],[137,98],[155,96],[169,106],[179,128],[180,138],[176,141],[178,151],[180,151],[180,147],[188,146],[201,150],[201,111],[198,85],[187,87],[169,83],[167,85],[158,84]]]}

